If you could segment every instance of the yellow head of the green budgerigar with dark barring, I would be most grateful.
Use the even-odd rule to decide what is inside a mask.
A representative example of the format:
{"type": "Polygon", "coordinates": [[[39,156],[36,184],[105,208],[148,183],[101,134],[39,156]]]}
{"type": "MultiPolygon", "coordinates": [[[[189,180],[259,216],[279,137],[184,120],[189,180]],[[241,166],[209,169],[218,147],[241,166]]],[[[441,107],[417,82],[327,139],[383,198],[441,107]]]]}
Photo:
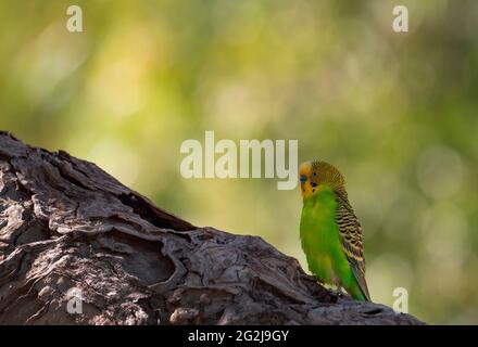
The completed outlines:
{"type": "Polygon", "coordinates": [[[342,174],[335,166],[325,162],[302,163],[299,167],[299,179],[303,198],[315,195],[325,188],[339,192],[343,191],[345,187],[342,174]]]}

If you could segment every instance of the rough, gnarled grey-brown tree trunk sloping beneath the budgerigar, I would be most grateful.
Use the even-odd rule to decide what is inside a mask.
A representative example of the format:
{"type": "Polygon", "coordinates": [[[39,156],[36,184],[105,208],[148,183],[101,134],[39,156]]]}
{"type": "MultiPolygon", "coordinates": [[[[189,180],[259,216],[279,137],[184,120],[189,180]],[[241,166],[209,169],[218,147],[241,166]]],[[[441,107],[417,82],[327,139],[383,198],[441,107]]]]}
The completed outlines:
{"type": "Polygon", "coordinates": [[[338,297],[259,236],[194,227],[92,163],[0,132],[0,324],[190,323],[420,322],[338,297]],[[78,293],[83,312],[68,313],[78,293]]]}

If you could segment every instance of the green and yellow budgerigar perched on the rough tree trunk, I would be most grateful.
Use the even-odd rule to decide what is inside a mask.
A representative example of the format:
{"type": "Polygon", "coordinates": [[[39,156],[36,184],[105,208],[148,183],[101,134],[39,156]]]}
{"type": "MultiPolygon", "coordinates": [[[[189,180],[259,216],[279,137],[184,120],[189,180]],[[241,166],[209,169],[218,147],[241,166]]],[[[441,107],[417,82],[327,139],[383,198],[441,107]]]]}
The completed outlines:
{"type": "Polygon", "coordinates": [[[305,162],[299,175],[303,197],[300,237],[309,269],[324,283],[370,301],[362,227],[349,203],[343,176],[325,162],[305,162]]]}

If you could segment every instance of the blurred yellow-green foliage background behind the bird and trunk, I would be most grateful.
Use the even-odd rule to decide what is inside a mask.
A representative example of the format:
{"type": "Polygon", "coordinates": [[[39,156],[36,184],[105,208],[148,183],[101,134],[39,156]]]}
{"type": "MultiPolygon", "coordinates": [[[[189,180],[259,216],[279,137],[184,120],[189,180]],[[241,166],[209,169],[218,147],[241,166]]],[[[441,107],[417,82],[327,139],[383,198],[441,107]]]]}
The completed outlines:
{"type": "Polygon", "coordinates": [[[179,175],[180,143],[205,130],[298,139],[300,160],[348,180],[373,298],[405,287],[418,318],[476,324],[477,43],[478,1],[0,0],[0,128],[306,269],[299,189],[179,175]]]}

